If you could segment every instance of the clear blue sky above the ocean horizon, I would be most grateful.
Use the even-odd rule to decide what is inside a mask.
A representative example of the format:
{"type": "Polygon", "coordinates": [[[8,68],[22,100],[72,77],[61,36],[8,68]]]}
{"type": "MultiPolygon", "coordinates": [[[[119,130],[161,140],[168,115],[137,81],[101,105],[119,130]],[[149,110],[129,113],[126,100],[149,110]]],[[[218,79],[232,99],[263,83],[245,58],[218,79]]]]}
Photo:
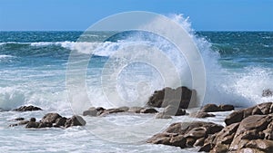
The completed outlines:
{"type": "Polygon", "coordinates": [[[273,31],[273,0],[0,0],[0,31],[84,31],[126,11],[184,14],[197,31],[273,31]]]}

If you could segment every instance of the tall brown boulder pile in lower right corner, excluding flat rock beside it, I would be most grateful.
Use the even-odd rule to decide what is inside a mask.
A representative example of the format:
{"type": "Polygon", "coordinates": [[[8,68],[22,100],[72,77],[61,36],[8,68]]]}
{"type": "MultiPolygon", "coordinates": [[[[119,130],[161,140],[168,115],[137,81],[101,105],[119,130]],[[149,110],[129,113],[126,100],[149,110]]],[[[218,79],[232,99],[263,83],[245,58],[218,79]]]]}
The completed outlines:
{"type": "Polygon", "coordinates": [[[227,116],[227,127],[205,140],[200,151],[273,151],[273,102],[236,110],[227,116]]]}

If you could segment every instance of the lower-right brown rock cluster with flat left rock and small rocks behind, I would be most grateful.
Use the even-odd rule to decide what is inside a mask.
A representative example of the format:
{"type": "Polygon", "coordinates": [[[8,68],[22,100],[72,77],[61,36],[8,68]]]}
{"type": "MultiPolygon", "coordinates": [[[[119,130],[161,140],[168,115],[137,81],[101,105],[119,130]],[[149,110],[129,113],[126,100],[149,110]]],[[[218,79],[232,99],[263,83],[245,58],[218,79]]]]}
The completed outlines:
{"type": "MultiPolygon", "coordinates": [[[[208,104],[200,112],[218,108],[223,106],[208,104]]],[[[228,105],[224,108],[234,109],[228,105]]],[[[147,142],[180,148],[201,147],[199,151],[211,153],[273,152],[273,102],[235,110],[225,122],[225,128],[211,122],[174,123],[147,142]]]]}

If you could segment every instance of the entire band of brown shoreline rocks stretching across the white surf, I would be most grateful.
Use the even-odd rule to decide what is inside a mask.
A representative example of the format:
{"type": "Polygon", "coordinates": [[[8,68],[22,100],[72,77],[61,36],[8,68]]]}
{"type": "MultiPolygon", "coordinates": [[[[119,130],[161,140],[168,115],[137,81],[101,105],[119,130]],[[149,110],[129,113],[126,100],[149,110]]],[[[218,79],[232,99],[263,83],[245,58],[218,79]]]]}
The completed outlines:
{"type": "MultiPolygon", "coordinates": [[[[268,94],[267,96],[270,96],[268,94]]],[[[264,94],[264,93],[263,93],[264,94]]],[[[171,124],[163,132],[147,139],[147,143],[163,144],[179,148],[199,148],[199,151],[221,152],[273,152],[273,102],[265,102],[256,106],[235,110],[232,105],[207,104],[194,113],[187,109],[197,104],[197,92],[187,87],[177,89],[164,88],[155,91],[147,101],[146,107],[120,107],[105,109],[91,107],[83,112],[86,117],[106,117],[114,113],[142,113],[155,114],[158,120],[167,120],[173,116],[188,115],[193,118],[215,117],[211,112],[230,111],[226,119],[226,126],[213,122],[194,121],[177,122],[171,124]],[[194,103],[194,104],[192,104],[194,103]],[[157,108],[164,110],[158,111],[157,108]]],[[[22,106],[15,111],[42,110],[35,106],[22,106]]],[[[25,120],[15,119],[18,123],[10,127],[25,125],[25,128],[69,128],[72,126],[85,126],[86,120],[79,115],[71,118],[62,117],[58,113],[47,113],[36,121],[35,118],[25,120]]]]}

